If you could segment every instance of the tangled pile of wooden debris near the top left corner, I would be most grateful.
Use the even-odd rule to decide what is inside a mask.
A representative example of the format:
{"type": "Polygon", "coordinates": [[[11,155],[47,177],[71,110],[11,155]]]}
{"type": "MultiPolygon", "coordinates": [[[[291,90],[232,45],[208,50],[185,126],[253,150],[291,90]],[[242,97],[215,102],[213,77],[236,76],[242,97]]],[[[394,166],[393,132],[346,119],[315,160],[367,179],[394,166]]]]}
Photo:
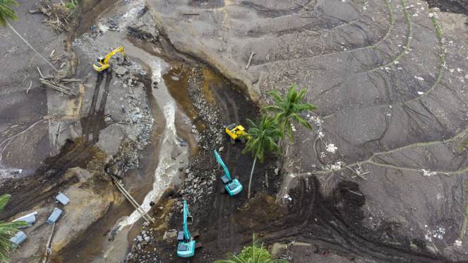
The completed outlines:
{"type": "Polygon", "coordinates": [[[47,18],[42,21],[42,23],[48,25],[56,31],[62,31],[66,29],[66,25],[68,25],[68,18],[73,13],[71,9],[66,8],[66,6],[62,4],[46,3],[44,1],[40,1],[37,3],[37,5],[39,8],[34,11],[30,11],[30,13],[44,13],[47,18]]]}

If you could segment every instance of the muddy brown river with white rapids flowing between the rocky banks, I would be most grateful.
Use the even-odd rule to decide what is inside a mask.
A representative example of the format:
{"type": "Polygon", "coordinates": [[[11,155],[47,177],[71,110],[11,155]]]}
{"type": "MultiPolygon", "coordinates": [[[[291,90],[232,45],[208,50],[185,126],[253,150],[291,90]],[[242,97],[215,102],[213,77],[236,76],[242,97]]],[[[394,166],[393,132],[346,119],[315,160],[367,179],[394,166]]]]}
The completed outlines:
{"type": "MultiPolygon", "coordinates": [[[[126,5],[116,4],[103,11],[100,16],[95,18],[93,23],[87,22],[88,25],[97,25],[97,28],[104,32],[104,35],[98,36],[92,40],[91,46],[76,47],[83,49],[90,59],[95,56],[95,47],[105,45],[108,47],[124,47],[124,51],[131,60],[137,62],[145,71],[148,71],[148,76],[143,79],[145,83],[146,95],[148,103],[152,110],[152,115],[157,122],[157,128],[154,132],[155,152],[150,156],[144,156],[145,151],[140,155],[142,165],[148,167],[143,169],[143,173],[151,172],[151,168],[155,168],[153,174],[140,177],[138,181],[131,180],[130,185],[126,188],[140,188],[142,185],[147,185],[143,189],[148,189],[148,185],[152,187],[148,192],[138,192],[136,198],[141,198],[140,202],[144,211],[150,210],[150,202],[157,201],[172,183],[180,184],[179,168],[184,168],[188,163],[190,155],[196,154],[197,136],[192,133],[193,128],[197,130],[205,129],[205,124],[198,120],[198,114],[193,109],[191,100],[188,98],[188,75],[192,68],[179,62],[167,59],[164,50],[161,47],[145,46],[144,43],[137,40],[135,37],[127,34],[126,27],[138,17],[140,11],[143,11],[145,1],[136,0],[129,1],[126,5]],[[119,30],[111,32],[106,25],[106,21],[116,15],[119,17],[119,30]],[[158,122],[158,120],[160,122],[158,122]],[[192,127],[193,125],[193,127],[192,127]],[[188,141],[188,147],[181,147],[181,140],[188,141]],[[176,158],[172,156],[174,150],[178,151],[176,158]],[[133,184],[133,185],[132,185],[133,184]],[[143,197],[144,196],[144,197],[143,197]]],[[[206,95],[209,103],[214,104],[215,98],[208,90],[210,83],[222,83],[222,78],[217,76],[210,69],[202,69],[204,83],[202,90],[206,95]]],[[[148,153],[148,151],[146,152],[148,153]]],[[[141,172],[141,170],[140,170],[141,172]]],[[[112,209],[119,209],[119,206],[110,208],[108,214],[122,214],[112,209]]],[[[90,247],[84,247],[85,252],[90,252],[93,255],[92,262],[117,262],[125,258],[128,251],[128,240],[133,239],[132,226],[138,221],[142,221],[140,213],[133,211],[129,215],[124,215],[118,219],[112,218],[114,222],[113,228],[119,227],[119,235],[112,242],[107,239],[102,240],[103,250],[95,250],[90,247]],[[127,240],[128,235],[128,240],[127,240]],[[92,251],[94,250],[94,251],[92,251]],[[100,253],[100,251],[102,253],[100,253]]],[[[107,223],[106,225],[109,225],[107,223]]],[[[140,226],[140,224],[138,224],[140,226]]],[[[98,238],[101,239],[101,238],[98,238]]],[[[98,244],[96,244],[98,245],[98,244]]],[[[79,252],[82,257],[86,253],[79,252]]],[[[88,254],[89,255],[89,254],[88,254]]]]}

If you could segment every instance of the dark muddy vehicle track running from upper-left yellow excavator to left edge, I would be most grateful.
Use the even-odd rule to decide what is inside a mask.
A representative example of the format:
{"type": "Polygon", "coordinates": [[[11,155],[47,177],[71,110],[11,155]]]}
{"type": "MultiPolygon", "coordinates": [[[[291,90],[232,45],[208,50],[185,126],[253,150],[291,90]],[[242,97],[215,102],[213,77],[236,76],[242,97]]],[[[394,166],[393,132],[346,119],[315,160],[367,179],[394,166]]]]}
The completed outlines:
{"type": "Polygon", "coordinates": [[[73,167],[86,168],[89,160],[92,160],[97,149],[93,149],[99,132],[104,128],[104,107],[109,93],[109,83],[112,74],[107,74],[104,85],[104,92],[100,101],[100,107],[95,109],[100,95],[100,86],[102,86],[103,74],[97,74],[95,91],[92,97],[92,107],[88,116],[83,117],[83,136],[75,139],[74,142],[66,141],[61,152],[56,156],[47,158],[44,165],[37,169],[36,173],[25,180],[9,180],[2,187],[2,192],[11,194],[14,199],[8,202],[1,219],[9,218],[21,211],[28,211],[37,206],[42,201],[47,201],[59,192],[61,189],[73,185],[79,181],[77,177],[65,177],[66,170],[73,167]],[[92,134],[92,139],[88,136],[92,134]],[[28,187],[28,191],[24,190],[28,187]]]}

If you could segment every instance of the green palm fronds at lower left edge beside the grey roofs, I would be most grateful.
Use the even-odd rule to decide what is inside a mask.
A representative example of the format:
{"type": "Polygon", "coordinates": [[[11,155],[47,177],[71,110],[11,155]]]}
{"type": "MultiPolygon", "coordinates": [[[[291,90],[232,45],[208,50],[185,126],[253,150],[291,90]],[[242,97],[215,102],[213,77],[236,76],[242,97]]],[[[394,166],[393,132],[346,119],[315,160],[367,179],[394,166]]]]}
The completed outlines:
{"type": "MultiPolygon", "coordinates": [[[[1,0],[0,0],[1,1],[1,0]]],[[[4,210],[4,207],[8,200],[10,200],[11,195],[4,194],[0,197],[0,214],[4,210]]],[[[8,262],[8,257],[6,256],[6,250],[8,248],[14,250],[13,245],[18,245],[15,242],[10,241],[16,233],[18,232],[18,227],[28,226],[28,223],[25,221],[15,221],[15,222],[4,222],[0,221],[0,262],[8,262]]]]}

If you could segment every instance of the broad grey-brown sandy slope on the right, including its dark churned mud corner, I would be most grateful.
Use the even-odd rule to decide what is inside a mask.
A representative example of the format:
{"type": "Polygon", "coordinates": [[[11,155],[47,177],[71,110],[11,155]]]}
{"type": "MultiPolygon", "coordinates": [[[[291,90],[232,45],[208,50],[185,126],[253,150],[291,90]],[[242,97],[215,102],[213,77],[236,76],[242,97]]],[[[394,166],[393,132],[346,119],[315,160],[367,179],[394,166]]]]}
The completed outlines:
{"type": "Polygon", "coordinates": [[[297,83],[318,107],[304,115],[313,131],[295,127],[296,143],[283,145],[277,198],[294,223],[251,230],[378,260],[467,260],[466,152],[452,151],[467,136],[464,16],[425,1],[147,7],[170,47],[258,105],[273,103],[268,90],[297,83]]]}

